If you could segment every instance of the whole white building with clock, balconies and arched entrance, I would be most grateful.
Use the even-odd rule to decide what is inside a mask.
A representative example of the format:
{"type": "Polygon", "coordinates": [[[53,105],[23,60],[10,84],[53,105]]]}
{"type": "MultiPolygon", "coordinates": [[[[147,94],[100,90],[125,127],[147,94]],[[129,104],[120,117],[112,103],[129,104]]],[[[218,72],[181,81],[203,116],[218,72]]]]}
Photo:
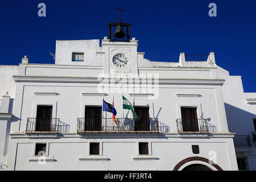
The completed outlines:
{"type": "Polygon", "coordinates": [[[237,155],[256,169],[253,139],[233,142],[236,133],[252,136],[256,94],[243,93],[240,77],[218,67],[213,52],[205,61],[180,53],[171,63],[145,59],[135,38],[105,37],[101,45],[57,40],[55,64],[24,57],[0,66],[3,168],[237,170],[237,155]],[[122,109],[122,95],[135,100],[141,121],[122,109]],[[118,125],[102,112],[103,97],[114,97],[118,125]]]}

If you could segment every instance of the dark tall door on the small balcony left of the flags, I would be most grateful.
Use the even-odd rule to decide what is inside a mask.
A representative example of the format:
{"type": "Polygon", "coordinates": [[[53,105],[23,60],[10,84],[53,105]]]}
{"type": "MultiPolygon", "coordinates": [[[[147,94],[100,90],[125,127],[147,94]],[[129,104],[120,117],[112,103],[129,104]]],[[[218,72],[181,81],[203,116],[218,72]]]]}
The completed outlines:
{"type": "Polygon", "coordinates": [[[51,121],[52,106],[38,106],[35,131],[51,131],[51,121]]]}

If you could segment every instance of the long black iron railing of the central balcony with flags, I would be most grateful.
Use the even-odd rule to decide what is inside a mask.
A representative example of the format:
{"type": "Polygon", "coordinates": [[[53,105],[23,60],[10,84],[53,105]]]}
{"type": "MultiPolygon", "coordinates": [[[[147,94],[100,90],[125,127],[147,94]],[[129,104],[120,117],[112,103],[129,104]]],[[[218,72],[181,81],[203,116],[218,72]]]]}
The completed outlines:
{"type": "Polygon", "coordinates": [[[77,132],[85,131],[159,131],[158,118],[134,121],[131,118],[77,118],[77,132]]]}

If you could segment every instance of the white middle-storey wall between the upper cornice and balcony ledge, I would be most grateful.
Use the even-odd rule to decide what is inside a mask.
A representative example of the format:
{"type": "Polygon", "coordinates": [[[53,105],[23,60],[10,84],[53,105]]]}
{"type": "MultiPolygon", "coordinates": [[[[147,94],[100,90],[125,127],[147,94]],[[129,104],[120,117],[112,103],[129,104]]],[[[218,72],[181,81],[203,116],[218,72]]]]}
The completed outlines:
{"type": "MultiPolygon", "coordinates": [[[[68,130],[68,132],[76,132],[77,118],[84,117],[85,105],[102,105],[102,94],[98,96],[82,96],[82,93],[98,93],[97,84],[61,84],[61,83],[18,83],[20,100],[16,101],[14,109],[14,121],[11,126],[11,132],[26,131],[27,118],[36,117],[37,105],[53,105],[53,118],[60,118],[68,130]],[[24,88],[24,92],[23,92],[24,88]],[[57,95],[41,96],[36,92],[56,92],[57,95]]],[[[212,127],[217,132],[228,132],[225,127],[226,118],[221,116],[223,112],[218,107],[216,101],[217,86],[205,85],[164,85],[160,86],[158,97],[154,100],[148,100],[148,96],[135,96],[135,105],[149,106],[150,117],[159,118],[160,127],[168,129],[168,131],[176,132],[176,119],[181,118],[181,106],[197,107],[197,117],[208,119],[212,127]],[[177,94],[199,94],[200,97],[177,97],[177,94]]],[[[46,93],[47,93],[46,92],[46,93]]],[[[114,106],[117,110],[117,118],[126,117],[129,110],[122,109],[122,93],[108,93],[104,100],[112,103],[114,96],[114,106]]],[[[123,95],[133,102],[133,95],[123,93],[123,95]]],[[[224,106],[224,105],[223,105],[224,106]]],[[[108,118],[112,118],[111,113],[107,114],[108,118]]],[[[132,114],[127,115],[132,118],[132,114]]]]}

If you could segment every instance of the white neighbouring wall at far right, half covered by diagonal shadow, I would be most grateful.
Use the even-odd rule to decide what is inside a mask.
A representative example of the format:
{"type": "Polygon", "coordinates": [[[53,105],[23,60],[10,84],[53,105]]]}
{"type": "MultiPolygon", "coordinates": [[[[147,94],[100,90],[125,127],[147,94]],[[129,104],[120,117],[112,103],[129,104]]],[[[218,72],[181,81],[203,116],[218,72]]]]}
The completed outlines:
{"type": "Polygon", "coordinates": [[[256,170],[256,144],[253,143],[253,118],[256,118],[256,105],[247,104],[246,98],[256,98],[256,93],[244,93],[241,76],[229,76],[219,69],[219,77],[225,78],[222,86],[226,117],[230,132],[237,135],[250,135],[251,147],[236,147],[237,156],[247,157],[250,170],[256,170]]]}

